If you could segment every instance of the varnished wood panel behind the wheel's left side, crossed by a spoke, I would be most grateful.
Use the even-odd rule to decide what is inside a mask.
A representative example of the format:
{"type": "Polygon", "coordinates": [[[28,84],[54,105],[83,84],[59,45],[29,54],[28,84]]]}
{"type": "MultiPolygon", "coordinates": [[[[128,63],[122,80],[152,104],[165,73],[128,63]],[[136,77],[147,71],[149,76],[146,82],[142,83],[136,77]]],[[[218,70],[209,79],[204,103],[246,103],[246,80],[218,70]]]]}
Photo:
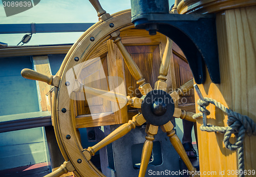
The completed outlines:
{"type": "MultiPolygon", "coordinates": [[[[101,62],[89,63],[80,73],[84,78],[82,83],[95,89],[126,95],[125,83],[123,82],[123,58],[112,40],[103,43],[100,49],[92,54],[91,58],[98,56],[101,56],[101,62]]],[[[76,93],[76,97],[79,100],[75,103],[77,128],[120,124],[128,121],[125,103],[111,102],[84,92],[76,93]],[[88,100],[91,100],[90,103],[88,100]],[[95,119],[96,117],[93,116],[95,114],[102,116],[95,119]]]]}

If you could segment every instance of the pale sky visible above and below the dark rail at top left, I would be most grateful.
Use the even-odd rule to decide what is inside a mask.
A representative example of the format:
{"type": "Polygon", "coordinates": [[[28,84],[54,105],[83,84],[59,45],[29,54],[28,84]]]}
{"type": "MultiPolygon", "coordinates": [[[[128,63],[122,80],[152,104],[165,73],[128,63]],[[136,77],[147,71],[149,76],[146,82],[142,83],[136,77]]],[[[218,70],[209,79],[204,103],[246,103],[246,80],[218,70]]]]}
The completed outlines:
{"type": "MultiPolygon", "coordinates": [[[[169,6],[175,0],[169,0],[169,6]]],[[[100,4],[107,13],[115,13],[131,9],[131,0],[101,0],[100,4]]],[[[41,0],[33,8],[6,17],[2,1],[0,1],[0,24],[30,24],[30,23],[96,23],[98,16],[86,0],[41,0]]],[[[72,33],[36,33],[26,45],[51,45],[74,43],[82,32],[72,33]]],[[[25,34],[0,34],[0,42],[8,46],[16,46],[25,34]]]]}

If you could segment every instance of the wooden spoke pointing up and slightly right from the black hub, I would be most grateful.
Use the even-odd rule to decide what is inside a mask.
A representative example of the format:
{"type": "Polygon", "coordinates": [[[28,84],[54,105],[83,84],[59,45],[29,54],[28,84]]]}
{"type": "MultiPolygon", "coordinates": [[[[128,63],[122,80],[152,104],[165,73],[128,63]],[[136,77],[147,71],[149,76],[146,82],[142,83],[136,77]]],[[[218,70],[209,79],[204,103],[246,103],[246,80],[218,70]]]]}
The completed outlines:
{"type": "Polygon", "coordinates": [[[173,41],[170,38],[167,38],[166,46],[163,53],[163,59],[159,68],[158,81],[155,83],[156,90],[166,91],[167,83],[166,76],[168,74],[170,59],[172,58],[173,41]]]}

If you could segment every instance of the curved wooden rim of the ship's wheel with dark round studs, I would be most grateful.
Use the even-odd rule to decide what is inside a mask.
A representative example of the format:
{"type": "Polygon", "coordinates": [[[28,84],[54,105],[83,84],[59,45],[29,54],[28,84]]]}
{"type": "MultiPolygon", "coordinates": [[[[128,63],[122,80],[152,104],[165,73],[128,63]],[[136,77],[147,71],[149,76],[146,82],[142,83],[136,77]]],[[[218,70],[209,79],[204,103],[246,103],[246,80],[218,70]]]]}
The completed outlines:
{"type": "Polygon", "coordinates": [[[67,81],[65,74],[74,65],[88,60],[100,43],[110,38],[111,33],[121,28],[127,29],[132,27],[130,10],[115,13],[112,15],[112,18],[104,22],[99,21],[76,41],[62,62],[58,72],[61,75],[61,80],[57,99],[54,103],[56,105],[56,109],[54,109],[54,111],[56,110],[56,114],[53,114],[55,134],[63,157],[66,161],[71,161],[76,170],[75,173],[81,176],[85,173],[88,176],[95,174],[98,176],[104,175],[90,161],[87,161],[82,153],[83,148],[77,137],[74,122],[72,121],[74,116],[72,108],[74,104],[69,97],[67,99],[67,95],[69,94],[65,85],[67,81]],[[111,23],[114,24],[114,27],[110,27],[111,23]],[[94,40],[90,40],[91,37],[94,40]],[[75,61],[75,57],[78,57],[79,60],[75,61]],[[66,109],[66,112],[63,112],[63,108],[66,109]],[[67,139],[67,136],[70,136],[70,138],[67,139]]]}

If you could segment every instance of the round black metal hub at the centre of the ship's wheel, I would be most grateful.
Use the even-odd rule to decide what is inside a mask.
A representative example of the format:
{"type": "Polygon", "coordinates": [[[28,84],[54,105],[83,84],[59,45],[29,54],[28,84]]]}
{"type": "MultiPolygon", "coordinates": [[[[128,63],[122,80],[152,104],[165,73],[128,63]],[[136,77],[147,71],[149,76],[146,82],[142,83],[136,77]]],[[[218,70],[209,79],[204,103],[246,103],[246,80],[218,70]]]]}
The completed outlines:
{"type": "Polygon", "coordinates": [[[174,115],[174,101],[162,90],[154,90],[145,96],[141,104],[142,115],[153,125],[164,125],[174,115]]]}

